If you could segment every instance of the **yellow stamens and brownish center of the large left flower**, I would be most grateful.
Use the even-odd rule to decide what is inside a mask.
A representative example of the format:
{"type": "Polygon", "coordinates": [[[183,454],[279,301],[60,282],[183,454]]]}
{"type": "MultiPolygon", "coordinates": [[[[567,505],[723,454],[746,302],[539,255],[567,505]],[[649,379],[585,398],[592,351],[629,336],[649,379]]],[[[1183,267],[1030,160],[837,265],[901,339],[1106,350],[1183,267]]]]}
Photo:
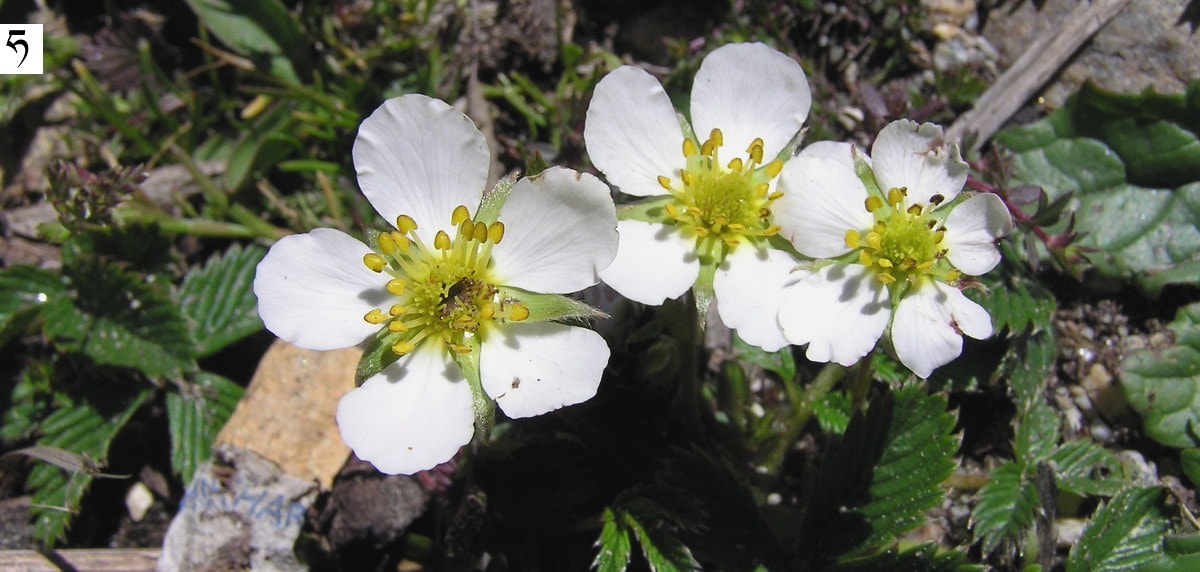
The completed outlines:
{"type": "Polygon", "coordinates": [[[362,257],[368,269],[391,276],[385,288],[396,296],[386,311],[372,309],[362,319],[398,333],[391,347],[398,355],[426,339],[466,354],[469,337],[529,317],[528,307],[502,299],[491,277],[492,247],[504,237],[504,224],[473,222],[464,205],[455,207],[450,223],[454,237],[438,230],[430,248],[416,235],[416,222],[401,215],[397,230],[379,234],[378,252],[362,257]]]}

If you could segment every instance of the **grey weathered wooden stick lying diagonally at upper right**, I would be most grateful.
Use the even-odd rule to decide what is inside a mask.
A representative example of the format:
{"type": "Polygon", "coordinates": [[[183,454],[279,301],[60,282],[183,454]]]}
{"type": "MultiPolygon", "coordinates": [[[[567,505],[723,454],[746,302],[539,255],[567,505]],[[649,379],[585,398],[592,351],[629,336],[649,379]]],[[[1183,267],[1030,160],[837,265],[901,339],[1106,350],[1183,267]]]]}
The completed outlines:
{"type": "Polygon", "coordinates": [[[1129,0],[1093,0],[1080,2],[1063,22],[1042,35],[991,84],[974,108],[959,116],[948,130],[947,139],[974,134],[971,151],[978,151],[1025,102],[1074,55],[1075,50],[1121,12],[1129,0]]]}

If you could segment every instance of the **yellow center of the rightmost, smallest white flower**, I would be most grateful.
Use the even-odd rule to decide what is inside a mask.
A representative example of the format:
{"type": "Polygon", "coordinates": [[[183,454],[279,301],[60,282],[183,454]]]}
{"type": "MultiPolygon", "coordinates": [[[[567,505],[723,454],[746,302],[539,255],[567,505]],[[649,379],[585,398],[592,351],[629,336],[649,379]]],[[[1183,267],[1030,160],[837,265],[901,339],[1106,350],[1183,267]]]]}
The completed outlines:
{"type": "Polygon", "coordinates": [[[959,279],[960,272],[946,260],[946,227],[931,216],[944,199],[935,194],[922,206],[907,205],[907,197],[906,188],[889,189],[887,204],[877,195],[868,197],[866,211],[875,216],[875,224],[865,235],[847,230],[846,246],[858,248],[858,261],[875,270],[884,284],[916,284],[925,276],[942,282],[959,279]]]}

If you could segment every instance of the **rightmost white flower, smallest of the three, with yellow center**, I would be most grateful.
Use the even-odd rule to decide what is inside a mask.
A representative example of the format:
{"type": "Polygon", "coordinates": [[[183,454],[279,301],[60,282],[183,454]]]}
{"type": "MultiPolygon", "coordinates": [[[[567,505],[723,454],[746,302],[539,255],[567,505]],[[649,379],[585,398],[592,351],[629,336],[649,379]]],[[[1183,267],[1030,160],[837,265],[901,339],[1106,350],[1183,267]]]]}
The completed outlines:
{"type": "Polygon", "coordinates": [[[798,271],[779,320],[790,342],[809,344],[809,359],[844,366],[890,324],[896,357],[928,378],[962,351],[964,333],[991,336],[991,317],[956,284],[1000,263],[996,239],[1013,222],[995,194],[959,197],[967,164],[941,127],[895,121],[871,151],[859,157],[863,177],[829,157],[784,167],[780,234],[802,254],[833,260],[798,271]]]}

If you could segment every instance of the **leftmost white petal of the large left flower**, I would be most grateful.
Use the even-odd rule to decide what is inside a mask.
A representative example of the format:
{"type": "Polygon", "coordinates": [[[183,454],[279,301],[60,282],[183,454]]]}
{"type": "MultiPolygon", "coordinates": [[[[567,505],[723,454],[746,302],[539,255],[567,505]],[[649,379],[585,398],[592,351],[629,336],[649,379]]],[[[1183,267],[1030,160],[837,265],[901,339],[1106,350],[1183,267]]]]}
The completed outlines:
{"type": "Polygon", "coordinates": [[[306,349],[349,348],[366,339],[379,326],[362,317],[390,300],[386,279],[362,264],[368,252],[334,229],[280,239],[254,273],[263,324],[306,349]]]}

